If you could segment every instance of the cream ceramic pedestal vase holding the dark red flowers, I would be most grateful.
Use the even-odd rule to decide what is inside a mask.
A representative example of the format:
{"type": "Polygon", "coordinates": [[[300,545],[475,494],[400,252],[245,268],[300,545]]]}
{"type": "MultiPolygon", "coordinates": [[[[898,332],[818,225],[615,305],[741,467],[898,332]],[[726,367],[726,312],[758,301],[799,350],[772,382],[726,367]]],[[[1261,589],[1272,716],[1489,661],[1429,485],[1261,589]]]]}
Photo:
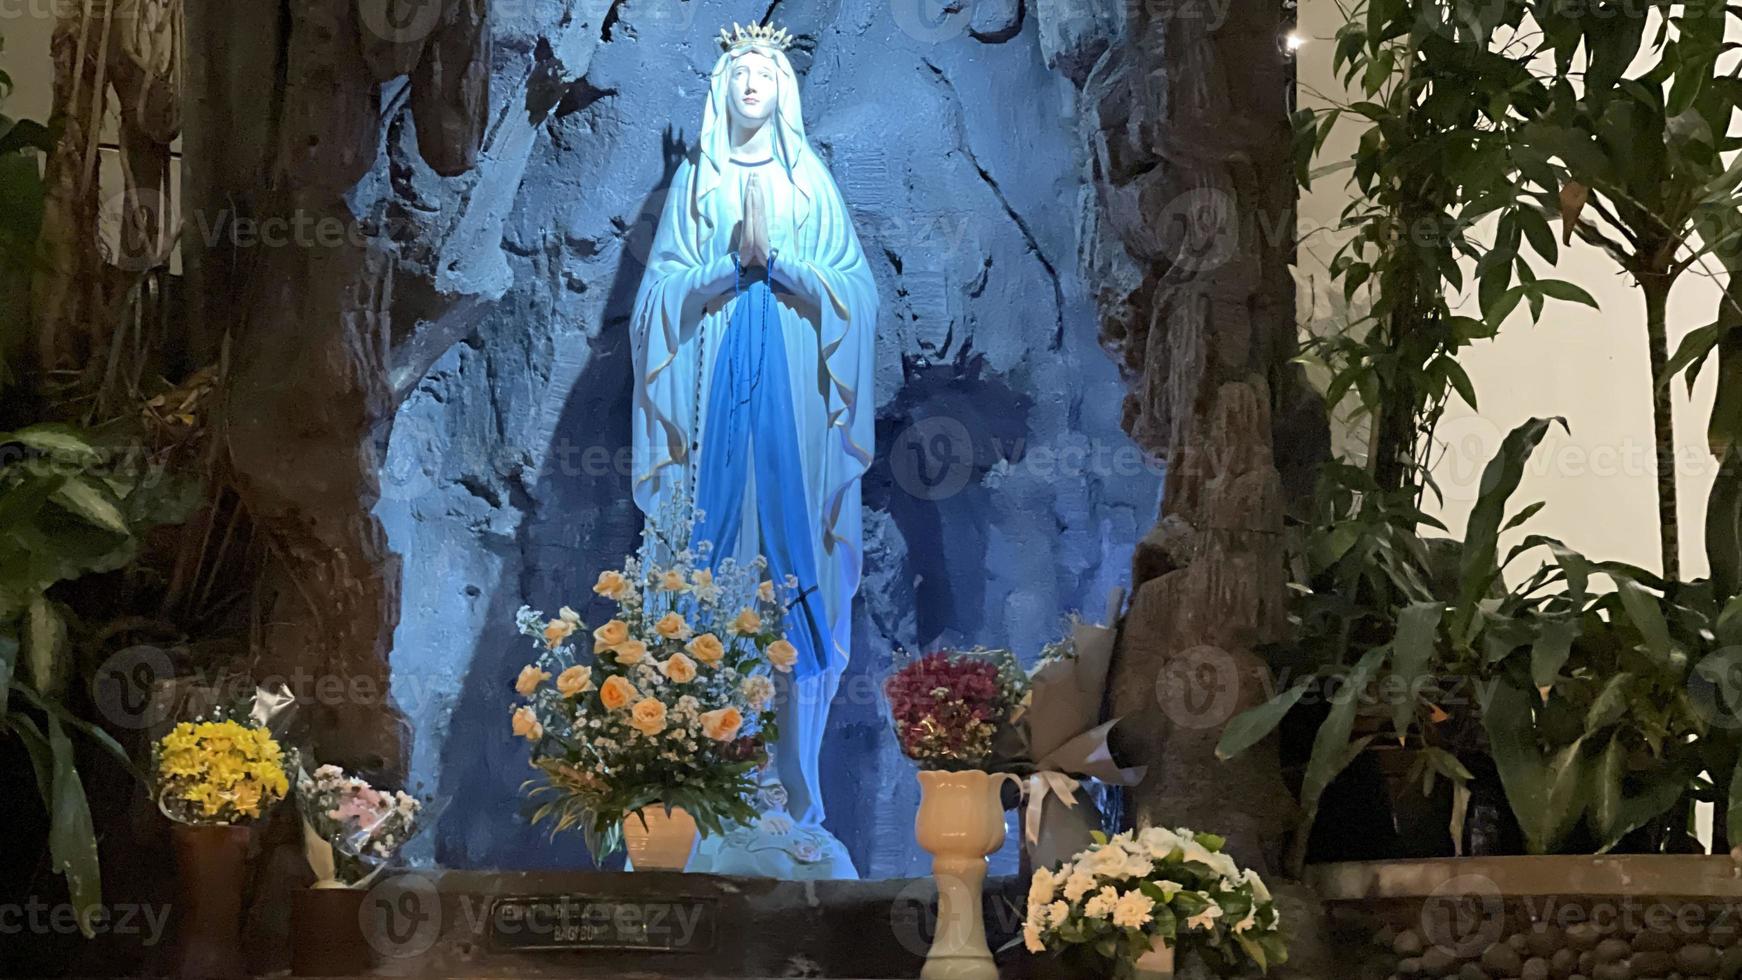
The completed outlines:
{"type": "Polygon", "coordinates": [[[986,856],[1003,846],[1003,804],[998,790],[1009,773],[920,773],[920,815],[915,837],[932,855],[937,879],[937,935],[925,954],[923,980],[998,980],[981,888],[986,856]]]}

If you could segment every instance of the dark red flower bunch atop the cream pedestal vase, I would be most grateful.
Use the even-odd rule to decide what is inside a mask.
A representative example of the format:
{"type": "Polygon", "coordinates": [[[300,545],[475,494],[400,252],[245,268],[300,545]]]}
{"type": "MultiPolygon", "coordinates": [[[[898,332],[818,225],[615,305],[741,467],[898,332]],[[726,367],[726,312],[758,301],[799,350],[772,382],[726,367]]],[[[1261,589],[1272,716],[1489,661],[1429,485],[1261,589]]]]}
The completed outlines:
{"type": "Polygon", "coordinates": [[[883,682],[901,750],[925,769],[982,769],[998,729],[1023,701],[1021,667],[1007,653],[932,653],[883,682]]]}

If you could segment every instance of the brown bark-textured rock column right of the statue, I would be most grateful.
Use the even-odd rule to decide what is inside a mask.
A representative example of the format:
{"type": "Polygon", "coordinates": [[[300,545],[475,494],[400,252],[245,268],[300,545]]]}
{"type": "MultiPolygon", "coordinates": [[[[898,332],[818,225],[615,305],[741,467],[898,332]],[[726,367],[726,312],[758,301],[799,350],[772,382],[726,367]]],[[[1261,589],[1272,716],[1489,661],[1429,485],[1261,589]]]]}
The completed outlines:
{"type": "Polygon", "coordinates": [[[1125,426],[1167,461],[1115,665],[1110,708],[1129,719],[1115,748],[1150,764],[1132,792],[1138,823],[1214,829],[1242,860],[1273,867],[1294,809],[1275,745],[1232,762],[1214,747],[1233,714],[1268,696],[1256,649],[1287,628],[1284,487],[1303,480],[1286,484],[1275,433],[1306,435],[1296,460],[1322,444],[1287,367],[1286,28],[1268,0],[1235,0],[1221,23],[1188,3],[1120,7],[1124,21],[1094,3],[1040,5],[1042,37],[1068,42],[1049,52],[1061,66],[1106,44],[1082,80],[1096,188],[1084,261],[1103,343],[1131,381],[1125,426]],[[1073,23],[1049,26],[1049,9],[1073,23]]]}

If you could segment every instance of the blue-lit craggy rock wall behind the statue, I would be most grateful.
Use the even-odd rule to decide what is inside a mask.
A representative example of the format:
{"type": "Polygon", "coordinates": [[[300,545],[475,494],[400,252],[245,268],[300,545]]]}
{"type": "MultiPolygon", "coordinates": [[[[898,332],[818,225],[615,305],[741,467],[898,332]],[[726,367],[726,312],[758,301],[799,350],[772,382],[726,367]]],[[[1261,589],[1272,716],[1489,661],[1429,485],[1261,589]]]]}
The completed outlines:
{"type": "Polygon", "coordinates": [[[1125,386],[1085,284],[1108,259],[1080,258],[1094,195],[1077,85],[1122,17],[1057,0],[498,2],[502,108],[477,172],[439,178],[397,113],[350,195],[385,237],[423,230],[394,242],[422,273],[395,298],[402,319],[477,322],[451,346],[418,352],[418,331],[401,345],[416,367],[392,379],[404,400],[375,510],[404,559],[390,667],[413,782],[449,801],[423,858],[585,865],[578,839],[514,816],[528,769],[509,686],[530,649],[512,613],[580,607],[636,545],[641,256],[700,124],[712,35],[770,14],[801,37],[810,138],[883,298],[866,585],[824,748],[831,829],[862,874],[925,870],[918,787],[878,695],[892,651],[1031,656],[1066,613],[1101,614],[1153,522],[1158,472],[1120,428],[1125,386]]]}

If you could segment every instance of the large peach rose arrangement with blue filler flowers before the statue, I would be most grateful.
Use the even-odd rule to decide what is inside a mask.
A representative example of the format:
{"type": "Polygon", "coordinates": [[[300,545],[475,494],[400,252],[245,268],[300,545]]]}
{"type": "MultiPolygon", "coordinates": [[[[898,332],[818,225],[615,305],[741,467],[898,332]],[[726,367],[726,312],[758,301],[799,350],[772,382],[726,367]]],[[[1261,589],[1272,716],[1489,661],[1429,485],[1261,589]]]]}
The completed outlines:
{"type": "Polygon", "coordinates": [[[540,769],[526,783],[533,822],[580,829],[594,860],[620,846],[632,815],[646,825],[681,808],[704,834],[756,820],[756,771],[775,738],[772,672],[798,660],[782,632],[794,583],[766,580],[760,557],[712,569],[707,557],[707,545],[650,538],[622,571],[599,574],[592,592],[615,616],[592,630],[570,607],[517,614],[540,649],[516,679],[512,715],[540,769]],[[585,653],[577,637],[591,641],[585,653]]]}

